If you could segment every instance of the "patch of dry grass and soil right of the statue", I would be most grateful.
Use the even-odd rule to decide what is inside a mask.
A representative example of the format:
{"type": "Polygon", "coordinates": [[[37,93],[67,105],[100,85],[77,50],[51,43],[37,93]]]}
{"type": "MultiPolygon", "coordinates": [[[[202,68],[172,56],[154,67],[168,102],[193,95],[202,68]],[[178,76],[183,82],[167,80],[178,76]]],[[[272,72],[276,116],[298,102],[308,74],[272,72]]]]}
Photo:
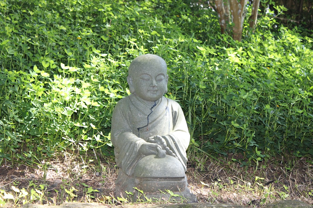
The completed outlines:
{"type": "Polygon", "coordinates": [[[205,167],[188,169],[190,185],[201,202],[262,207],[290,199],[313,204],[312,160],[276,158],[258,167],[207,161],[205,167]]]}

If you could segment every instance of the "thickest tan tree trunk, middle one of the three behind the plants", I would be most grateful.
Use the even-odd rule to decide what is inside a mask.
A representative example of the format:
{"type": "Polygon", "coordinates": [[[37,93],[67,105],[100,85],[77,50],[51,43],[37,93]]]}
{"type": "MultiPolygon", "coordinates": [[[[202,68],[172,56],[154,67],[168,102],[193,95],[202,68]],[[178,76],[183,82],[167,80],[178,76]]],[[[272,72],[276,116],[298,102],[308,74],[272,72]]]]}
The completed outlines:
{"type": "Polygon", "coordinates": [[[233,39],[241,41],[244,17],[246,16],[247,0],[229,0],[229,7],[232,13],[233,39]]]}

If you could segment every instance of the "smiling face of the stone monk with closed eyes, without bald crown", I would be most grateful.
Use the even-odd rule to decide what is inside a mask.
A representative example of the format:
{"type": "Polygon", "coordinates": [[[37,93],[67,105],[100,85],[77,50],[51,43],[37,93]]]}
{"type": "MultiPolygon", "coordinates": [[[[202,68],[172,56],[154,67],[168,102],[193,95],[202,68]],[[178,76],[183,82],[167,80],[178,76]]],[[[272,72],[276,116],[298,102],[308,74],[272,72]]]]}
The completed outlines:
{"type": "Polygon", "coordinates": [[[167,69],[159,64],[144,65],[136,69],[128,78],[136,95],[146,101],[156,101],[167,91],[167,69]]]}

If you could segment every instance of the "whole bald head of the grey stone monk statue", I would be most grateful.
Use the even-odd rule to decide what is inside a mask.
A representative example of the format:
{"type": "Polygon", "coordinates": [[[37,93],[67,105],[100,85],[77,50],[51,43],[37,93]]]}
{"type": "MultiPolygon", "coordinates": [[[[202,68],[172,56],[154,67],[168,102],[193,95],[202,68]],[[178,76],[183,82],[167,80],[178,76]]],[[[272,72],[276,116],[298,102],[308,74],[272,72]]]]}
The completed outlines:
{"type": "Polygon", "coordinates": [[[160,56],[141,55],[129,66],[129,90],[143,100],[153,102],[160,99],[167,92],[167,82],[167,65],[160,56]]]}

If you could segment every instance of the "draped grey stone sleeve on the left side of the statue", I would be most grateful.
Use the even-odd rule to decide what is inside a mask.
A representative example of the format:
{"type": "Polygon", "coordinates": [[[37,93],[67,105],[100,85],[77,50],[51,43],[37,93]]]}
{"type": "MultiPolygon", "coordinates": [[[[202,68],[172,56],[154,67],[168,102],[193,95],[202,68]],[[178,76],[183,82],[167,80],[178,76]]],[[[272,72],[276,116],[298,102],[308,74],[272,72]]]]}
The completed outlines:
{"type": "Polygon", "coordinates": [[[113,110],[111,141],[114,146],[117,167],[130,176],[137,161],[143,157],[139,148],[145,141],[132,133],[131,110],[125,99],[128,98],[120,100],[113,110]]]}

